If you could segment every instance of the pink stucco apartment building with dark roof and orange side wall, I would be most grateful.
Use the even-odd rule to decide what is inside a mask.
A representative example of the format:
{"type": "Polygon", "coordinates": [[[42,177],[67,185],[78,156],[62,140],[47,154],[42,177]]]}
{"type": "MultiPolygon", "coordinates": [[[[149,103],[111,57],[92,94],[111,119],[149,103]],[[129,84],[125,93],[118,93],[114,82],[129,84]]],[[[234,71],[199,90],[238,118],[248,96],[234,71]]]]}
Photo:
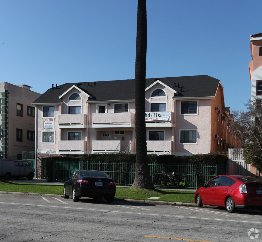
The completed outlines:
{"type": "MultiPolygon", "coordinates": [[[[53,85],[32,105],[38,169],[48,156],[136,152],[135,80],[53,85]]],[[[183,156],[237,146],[218,79],[146,79],[145,108],[148,153],[183,156]]]]}

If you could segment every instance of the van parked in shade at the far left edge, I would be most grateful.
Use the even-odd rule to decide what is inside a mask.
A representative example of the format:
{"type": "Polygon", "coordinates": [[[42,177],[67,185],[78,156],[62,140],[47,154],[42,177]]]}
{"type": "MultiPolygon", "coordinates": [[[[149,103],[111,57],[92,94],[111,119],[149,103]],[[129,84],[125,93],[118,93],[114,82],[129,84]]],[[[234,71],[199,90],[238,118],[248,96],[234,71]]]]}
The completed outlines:
{"type": "Polygon", "coordinates": [[[17,180],[20,177],[27,177],[28,180],[32,180],[34,172],[35,169],[27,161],[0,159],[0,177],[5,180],[11,177],[17,180]]]}

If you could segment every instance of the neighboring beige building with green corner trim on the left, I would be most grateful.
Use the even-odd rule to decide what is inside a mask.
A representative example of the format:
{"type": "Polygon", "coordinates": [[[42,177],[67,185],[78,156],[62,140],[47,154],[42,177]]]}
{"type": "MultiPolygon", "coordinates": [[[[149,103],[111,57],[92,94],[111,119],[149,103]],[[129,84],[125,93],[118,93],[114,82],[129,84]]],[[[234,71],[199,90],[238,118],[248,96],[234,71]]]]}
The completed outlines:
{"type": "Polygon", "coordinates": [[[35,108],[40,93],[27,85],[0,82],[1,158],[21,159],[23,151],[35,151],[35,108]]]}

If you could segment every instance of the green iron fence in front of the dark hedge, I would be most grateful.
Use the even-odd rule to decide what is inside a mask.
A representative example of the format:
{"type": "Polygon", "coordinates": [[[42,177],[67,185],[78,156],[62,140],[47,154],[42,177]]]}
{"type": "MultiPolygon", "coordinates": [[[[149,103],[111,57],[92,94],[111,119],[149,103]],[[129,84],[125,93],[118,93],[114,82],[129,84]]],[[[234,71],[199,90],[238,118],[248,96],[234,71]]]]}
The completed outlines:
{"type": "MultiPolygon", "coordinates": [[[[53,180],[64,181],[77,169],[105,171],[117,185],[131,186],[135,179],[135,163],[54,161],[53,180]]],[[[212,177],[225,173],[224,164],[156,164],[149,163],[154,186],[198,188],[212,177]]]]}

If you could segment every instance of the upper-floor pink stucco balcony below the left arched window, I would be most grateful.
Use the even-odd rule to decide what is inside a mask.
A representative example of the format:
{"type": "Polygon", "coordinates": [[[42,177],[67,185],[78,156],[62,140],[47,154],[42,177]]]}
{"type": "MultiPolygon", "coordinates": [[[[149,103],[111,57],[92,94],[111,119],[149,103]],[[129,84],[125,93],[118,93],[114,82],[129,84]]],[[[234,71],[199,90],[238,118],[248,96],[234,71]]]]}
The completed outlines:
{"type": "Polygon", "coordinates": [[[58,128],[86,128],[86,114],[59,114],[58,128]]]}

